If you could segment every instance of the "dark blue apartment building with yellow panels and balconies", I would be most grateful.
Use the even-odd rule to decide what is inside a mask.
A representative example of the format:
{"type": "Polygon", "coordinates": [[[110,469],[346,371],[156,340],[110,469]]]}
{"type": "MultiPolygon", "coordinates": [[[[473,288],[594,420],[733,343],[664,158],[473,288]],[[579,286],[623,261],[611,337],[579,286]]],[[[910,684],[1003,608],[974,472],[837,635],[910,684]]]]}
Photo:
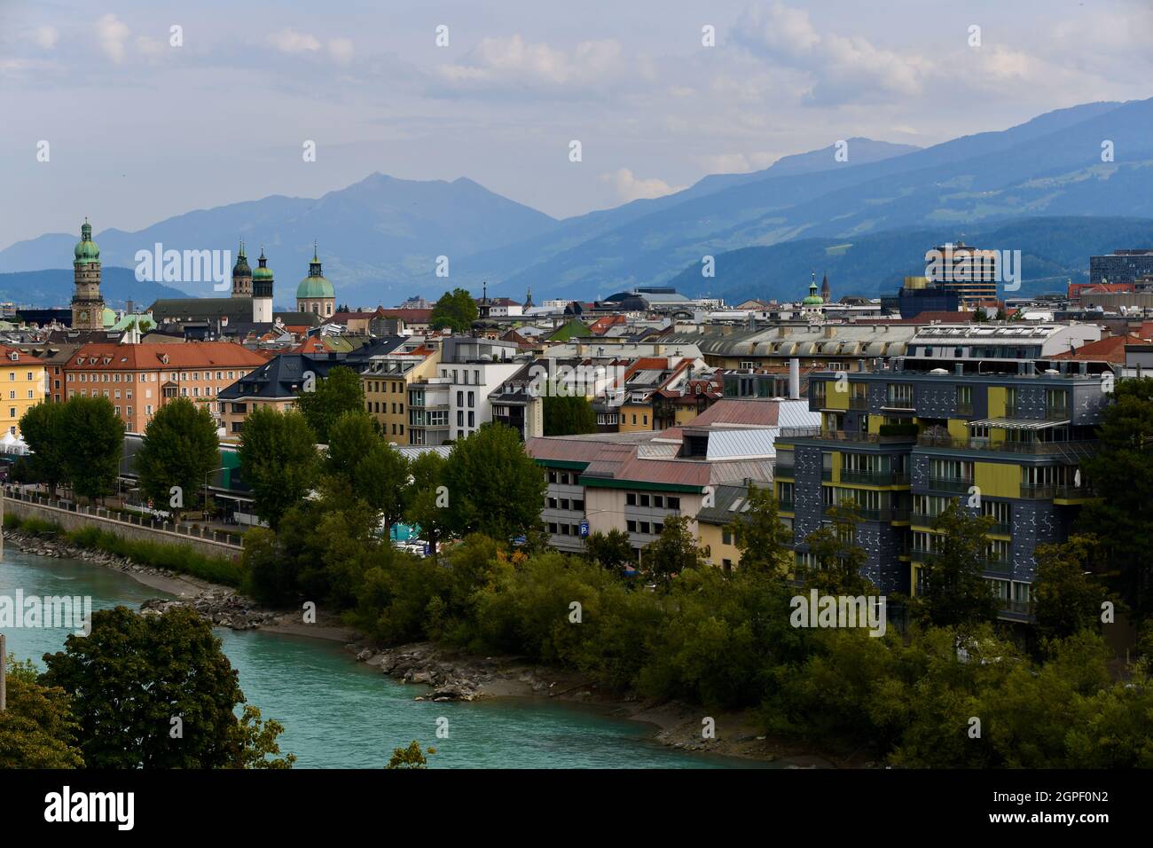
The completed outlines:
{"type": "Polygon", "coordinates": [[[793,518],[798,562],[830,506],[851,502],[865,576],[915,594],[950,501],[993,516],[985,577],[1002,617],[1031,614],[1038,545],[1063,541],[1088,497],[1080,461],[1109,403],[1102,362],[905,358],[813,374],[819,435],[779,440],[776,494],[793,518]]]}

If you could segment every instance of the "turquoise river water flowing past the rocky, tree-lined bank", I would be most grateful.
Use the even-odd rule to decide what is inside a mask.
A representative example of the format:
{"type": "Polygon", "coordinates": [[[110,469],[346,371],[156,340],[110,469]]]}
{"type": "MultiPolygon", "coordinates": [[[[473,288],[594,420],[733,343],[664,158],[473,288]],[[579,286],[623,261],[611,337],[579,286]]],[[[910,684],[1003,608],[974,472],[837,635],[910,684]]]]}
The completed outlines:
{"type": "MultiPolygon", "coordinates": [[[[0,595],[91,595],[92,609],[137,608],[163,593],[113,569],[32,556],[6,546],[0,595]]],[[[68,629],[6,631],[8,651],[32,659],[61,650],[68,629]]],[[[406,685],[353,660],[338,643],[307,637],[216,630],[240,673],[248,703],[285,726],[280,749],[297,768],[379,768],[392,750],[419,740],[435,745],[432,768],[717,768],[756,767],[688,753],[653,741],[655,728],[582,705],[528,698],[475,703],[414,701],[406,685]],[[437,737],[447,719],[447,738],[437,737]],[[442,722],[443,723],[443,722],[442,722]]]]}

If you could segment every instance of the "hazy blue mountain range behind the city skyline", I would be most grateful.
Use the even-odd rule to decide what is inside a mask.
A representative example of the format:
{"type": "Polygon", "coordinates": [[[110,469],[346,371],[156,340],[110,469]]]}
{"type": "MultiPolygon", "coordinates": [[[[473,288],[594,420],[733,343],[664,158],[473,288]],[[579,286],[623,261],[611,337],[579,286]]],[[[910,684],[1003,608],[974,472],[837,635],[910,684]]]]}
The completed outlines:
{"type": "MultiPolygon", "coordinates": [[[[274,195],[96,239],[106,267],[131,268],[156,242],[235,252],[243,238],[250,257],[264,246],[286,305],[314,239],[338,300],[354,305],[431,299],[453,286],[480,294],[483,280],[490,294],[517,299],[532,287],[537,302],[670,284],[744,299],[796,297],[812,270],[836,278],[838,297],[875,294],[920,272],[933,245],[962,238],[1022,250],[1023,291],[1060,288],[1084,275],[1091,253],[1153,245],[1151,219],[1153,98],[1084,104],[924,149],[849,138],[564,220],[466,178],[372,174],[315,200],[274,195]],[[447,277],[436,273],[440,256],[447,277]],[[702,276],[704,256],[715,257],[715,277],[702,276]]],[[[75,241],[51,233],[0,252],[0,272],[12,275],[0,277],[0,292],[23,300],[12,294],[22,272],[67,268],[75,241]]],[[[44,297],[67,301],[65,284],[44,297]]],[[[211,294],[210,284],[173,285],[211,294]]],[[[140,294],[137,302],[156,297],[140,294]]]]}

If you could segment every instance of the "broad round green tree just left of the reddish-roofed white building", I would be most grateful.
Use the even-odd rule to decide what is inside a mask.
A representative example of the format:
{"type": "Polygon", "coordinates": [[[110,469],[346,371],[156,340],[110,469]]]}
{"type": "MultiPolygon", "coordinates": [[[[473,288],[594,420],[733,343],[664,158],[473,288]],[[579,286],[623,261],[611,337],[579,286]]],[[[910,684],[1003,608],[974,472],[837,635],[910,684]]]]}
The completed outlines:
{"type": "Polygon", "coordinates": [[[540,521],[544,471],[511,427],[487,423],[457,442],[443,480],[447,525],[459,535],[484,533],[507,541],[540,521]]]}

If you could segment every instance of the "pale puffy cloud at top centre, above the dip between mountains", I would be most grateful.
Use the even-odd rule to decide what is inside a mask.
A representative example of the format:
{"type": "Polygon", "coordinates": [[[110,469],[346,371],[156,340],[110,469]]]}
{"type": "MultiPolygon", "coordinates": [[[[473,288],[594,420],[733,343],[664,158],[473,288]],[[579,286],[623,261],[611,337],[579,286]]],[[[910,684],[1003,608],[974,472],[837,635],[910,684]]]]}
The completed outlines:
{"type": "Polygon", "coordinates": [[[609,38],[581,42],[571,51],[529,44],[520,35],[484,38],[454,65],[442,65],[437,76],[457,89],[587,90],[612,78],[621,66],[620,43],[609,38]]]}

